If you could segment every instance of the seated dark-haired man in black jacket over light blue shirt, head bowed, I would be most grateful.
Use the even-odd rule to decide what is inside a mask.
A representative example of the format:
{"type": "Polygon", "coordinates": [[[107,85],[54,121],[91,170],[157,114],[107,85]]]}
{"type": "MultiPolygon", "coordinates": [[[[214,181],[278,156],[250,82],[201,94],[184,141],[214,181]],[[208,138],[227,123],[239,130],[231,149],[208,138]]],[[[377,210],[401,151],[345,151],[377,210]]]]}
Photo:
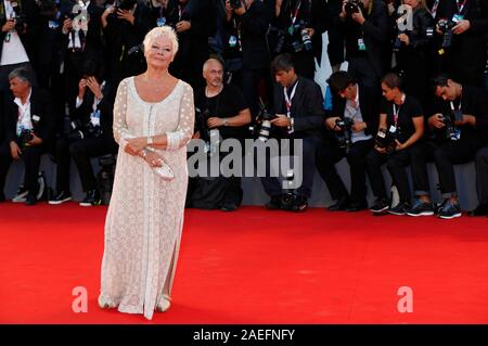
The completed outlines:
{"type": "Polygon", "coordinates": [[[377,129],[381,95],[363,88],[343,71],[332,74],[328,82],[335,94],[325,127],[337,136],[328,137],[319,153],[317,168],[337,201],[329,210],[358,212],[368,207],[365,156],[374,144],[372,133],[377,129]],[[350,197],[335,169],[335,164],[343,157],[349,163],[350,197]]]}

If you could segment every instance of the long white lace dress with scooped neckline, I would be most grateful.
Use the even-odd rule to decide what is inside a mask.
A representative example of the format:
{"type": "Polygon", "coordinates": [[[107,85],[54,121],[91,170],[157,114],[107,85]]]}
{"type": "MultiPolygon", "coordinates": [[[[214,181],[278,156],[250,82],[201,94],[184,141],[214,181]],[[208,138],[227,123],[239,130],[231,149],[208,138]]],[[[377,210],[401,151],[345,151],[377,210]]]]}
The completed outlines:
{"type": "Polygon", "coordinates": [[[139,97],[133,77],[124,79],[114,104],[119,143],[105,221],[99,303],[151,319],[163,294],[170,295],[183,227],[188,187],[187,143],[193,133],[193,90],[179,80],[162,102],[139,97]],[[157,150],[175,179],[162,180],[143,158],[124,151],[125,139],[166,133],[157,150]]]}

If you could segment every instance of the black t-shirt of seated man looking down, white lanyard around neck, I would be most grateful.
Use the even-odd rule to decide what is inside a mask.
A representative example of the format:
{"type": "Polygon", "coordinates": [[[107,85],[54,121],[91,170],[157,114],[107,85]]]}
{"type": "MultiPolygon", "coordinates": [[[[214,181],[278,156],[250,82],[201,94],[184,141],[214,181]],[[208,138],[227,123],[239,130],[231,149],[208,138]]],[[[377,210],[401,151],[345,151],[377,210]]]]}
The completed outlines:
{"type": "Polygon", "coordinates": [[[406,142],[415,132],[413,118],[424,115],[419,101],[412,95],[406,95],[404,102],[400,106],[383,99],[382,114],[386,114],[387,128],[391,125],[397,127],[400,143],[406,142]],[[395,112],[398,116],[396,121],[395,112]]]}

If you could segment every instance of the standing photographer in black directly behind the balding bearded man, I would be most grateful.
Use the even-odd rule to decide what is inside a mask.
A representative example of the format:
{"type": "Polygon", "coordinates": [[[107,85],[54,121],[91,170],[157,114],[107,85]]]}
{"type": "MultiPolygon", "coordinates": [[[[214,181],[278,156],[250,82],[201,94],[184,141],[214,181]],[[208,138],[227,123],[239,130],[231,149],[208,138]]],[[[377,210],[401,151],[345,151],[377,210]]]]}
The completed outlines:
{"type": "Polygon", "coordinates": [[[260,80],[265,80],[271,99],[272,80],[269,69],[271,59],[266,43],[269,16],[265,4],[255,0],[227,0],[226,12],[227,35],[223,57],[226,63],[228,59],[230,62],[242,60],[241,69],[236,72],[242,78],[233,79],[243,90],[253,116],[256,116],[260,80]]]}

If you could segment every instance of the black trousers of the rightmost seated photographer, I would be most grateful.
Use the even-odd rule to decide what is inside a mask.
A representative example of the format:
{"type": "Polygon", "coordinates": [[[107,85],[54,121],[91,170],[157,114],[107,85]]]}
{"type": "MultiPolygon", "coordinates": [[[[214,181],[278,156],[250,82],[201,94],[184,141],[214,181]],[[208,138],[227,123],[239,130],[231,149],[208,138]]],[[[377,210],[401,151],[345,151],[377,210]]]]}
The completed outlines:
{"type": "Polygon", "coordinates": [[[411,151],[414,194],[416,196],[429,194],[426,163],[434,161],[439,175],[442,198],[457,196],[454,165],[473,161],[477,148],[474,141],[465,137],[461,137],[459,141],[419,143],[418,148],[411,151]]]}

